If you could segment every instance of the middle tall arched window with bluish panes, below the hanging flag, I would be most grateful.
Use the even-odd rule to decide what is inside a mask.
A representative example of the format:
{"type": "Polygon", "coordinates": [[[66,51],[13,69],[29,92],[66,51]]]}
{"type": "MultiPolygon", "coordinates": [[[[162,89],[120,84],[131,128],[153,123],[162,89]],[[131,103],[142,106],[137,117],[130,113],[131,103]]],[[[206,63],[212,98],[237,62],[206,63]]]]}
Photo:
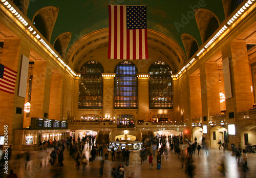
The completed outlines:
{"type": "Polygon", "coordinates": [[[115,68],[114,109],[138,108],[138,69],[131,61],[121,61],[115,68]]]}

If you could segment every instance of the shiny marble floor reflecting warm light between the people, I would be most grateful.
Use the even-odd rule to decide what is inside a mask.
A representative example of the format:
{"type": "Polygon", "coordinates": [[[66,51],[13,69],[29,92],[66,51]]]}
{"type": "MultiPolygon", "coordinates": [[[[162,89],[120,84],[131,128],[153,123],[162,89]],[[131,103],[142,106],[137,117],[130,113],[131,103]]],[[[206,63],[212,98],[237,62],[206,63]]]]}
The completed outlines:
{"type": "MultiPolygon", "coordinates": [[[[182,149],[186,149],[188,145],[182,145],[182,149]]],[[[97,156],[95,162],[89,162],[85,171],[76,170],[74,167],[75,161],[69,155],[69,151],[64,151],[63,167],[51,166],[49,163],[50,152],[48,151],[33,151],[30,152],[31,161],[28,162],[28,168],[25,169],[25,159],[15,159],[17,153],[23,153],[21,151],[13,151],[11,160],[8,162],[8,169],[13,169],[18,178],[39,178],[39,177],[99,177],[99,163],[102,157],[97,156]],[[40,165],[41,164],[41,165],[40,165]]],[[[168,149],[168,155],[162,157],[162,169],[157,169],[156,157],[153,159],[153,169],[149,169],[148,161],[140,162],[139,152],[131,152],[129,167],[124,166],[124,177],[130,177],[134,173],[134,177],[188,177],[185,174],[185,170],[181,168],[181,161],[178,159],[178,155],[171,152],[168,149]]],[[[90,148],[85,147],[83,153],[86,153],[86,157],[90,157],[90,148]]],[[[224,177],[217,169],[221,159],[226,162],[226,177],[245,177],[242,166],[238,166],[236,157],[231,155],[230,150],[223,150],[216,148],[209,148],[207,154],[201,150],[200,154],[197,153],[194,156],[194,164],[196,166],[194,177],[224,177]]],[[[88,159],[89,160],[89,159],[88,159]]],[[[243,162],[243,160],[242,160],[243,162]]],[[[111,169],[118,167],[120,161],[105,160],[103,167],[103,177],[111,177],[111,169]]],[[[125,165],[125,163],[124,163],[125,165]]],[[[249,171],[246,173],[246,177],[256,177],[256,153],[248,153],[248,167],[249,171]]],[[[9,171],[8,171],[9,173],[9,171]]],[[[7,174],[4,174],[6,177],[7,174]]]]}

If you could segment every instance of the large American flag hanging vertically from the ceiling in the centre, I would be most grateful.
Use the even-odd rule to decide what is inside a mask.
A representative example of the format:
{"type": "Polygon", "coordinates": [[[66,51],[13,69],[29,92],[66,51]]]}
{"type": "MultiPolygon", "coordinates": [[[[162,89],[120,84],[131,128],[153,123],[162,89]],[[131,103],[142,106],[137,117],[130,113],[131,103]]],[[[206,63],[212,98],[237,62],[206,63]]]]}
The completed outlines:
{"type": "Polygon", "coordinates": [[[148,59],[146,6],[109,5],[109,59],[148,59]]]}

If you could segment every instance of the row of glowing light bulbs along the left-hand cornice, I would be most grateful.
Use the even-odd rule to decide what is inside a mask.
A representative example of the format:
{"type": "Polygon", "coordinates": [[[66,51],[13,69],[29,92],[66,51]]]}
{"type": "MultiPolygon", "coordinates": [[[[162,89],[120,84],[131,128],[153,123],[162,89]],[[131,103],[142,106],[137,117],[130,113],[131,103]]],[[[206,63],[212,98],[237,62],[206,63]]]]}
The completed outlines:
{"type": "Polygon", "coordinates": [[[32,34],[42,43],[42,45],[44,45],[45,48],[46,48],[55,58],[57,58],[57,60],[58,60],[64,67],[66,67],[66,68],[69,70],[69,72],[70,72],[72,75],[74,75],[74,76],[79,76],[79,77],[80,77],[80,75],[75,74],[75,73],[72,71],[72,69],[71,69],[65,62],[63,62],[63,60],[55,53],[55,51],[48,45],[48,43],[47,43],[44,39],[42,39],[42,38],[40,37],[40,35],[37,34],[37,32],[36,32],[31,26],[29,26],[29,23],[22,17],[22,15],[20,15],[20,14],[17,12],[17,10],[15,10],[14,7],[12,7],[11,4],[9,4],[8,1],[6,1],[6,0],[0,0],[0,1],[3,3],[3,5],[5,5],[5,6],[7,7],[7,9],[8,9],[14,16],[16,16],[16,18],[20,21],[20,23],[22,23],[25,27],[27,27],[27,29],[30,31],[30,33],[32,33],[32,34]],[[29,26],[29,27],[28,27],[28,26],[29,26]]]}

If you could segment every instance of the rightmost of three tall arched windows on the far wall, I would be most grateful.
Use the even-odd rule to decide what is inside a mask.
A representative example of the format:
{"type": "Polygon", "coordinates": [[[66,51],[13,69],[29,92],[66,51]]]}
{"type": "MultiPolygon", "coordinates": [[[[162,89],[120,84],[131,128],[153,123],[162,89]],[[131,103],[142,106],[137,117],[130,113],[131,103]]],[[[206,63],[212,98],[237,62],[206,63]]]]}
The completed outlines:
{"type": "Polygon", "coordinates": [[[149,92],[150,109],[173,108],[172,71],[163,61],[154,62],[150,66],[149,92]]]}

